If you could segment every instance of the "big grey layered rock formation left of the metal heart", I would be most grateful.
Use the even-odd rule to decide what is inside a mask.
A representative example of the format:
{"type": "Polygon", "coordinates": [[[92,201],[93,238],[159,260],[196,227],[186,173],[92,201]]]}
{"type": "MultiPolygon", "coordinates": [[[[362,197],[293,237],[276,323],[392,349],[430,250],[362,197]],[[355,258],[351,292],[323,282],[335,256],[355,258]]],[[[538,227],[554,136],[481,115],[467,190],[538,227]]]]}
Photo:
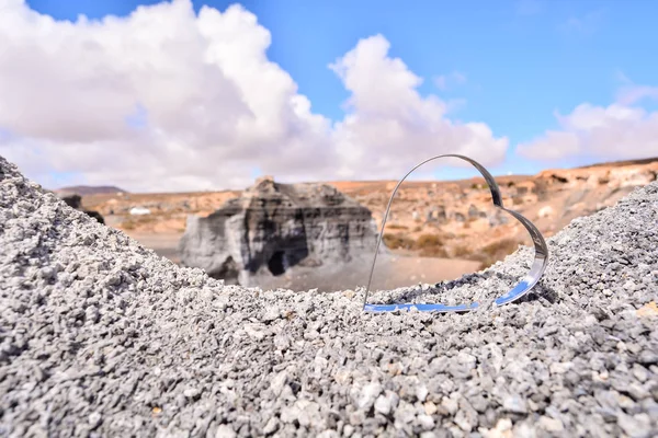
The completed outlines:
{"type": "Polygon", "coordinates": [[[263,177],[207,217],[189,216],[181,263],[250,285],[293,267],[347,264],[372,255],[371,211],[334,187],[263,177]]]}

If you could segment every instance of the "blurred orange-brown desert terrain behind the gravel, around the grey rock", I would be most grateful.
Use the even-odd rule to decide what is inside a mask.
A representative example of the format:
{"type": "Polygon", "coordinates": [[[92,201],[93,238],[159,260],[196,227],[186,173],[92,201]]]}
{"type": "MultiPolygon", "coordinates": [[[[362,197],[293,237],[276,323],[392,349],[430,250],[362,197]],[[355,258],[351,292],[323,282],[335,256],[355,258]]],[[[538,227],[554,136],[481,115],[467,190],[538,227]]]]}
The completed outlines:
{"type": "MultiPolygon", "coordinates": [[[[602,163],[578,169],[546,170],[536,175],[496,177],[503,203],[531,221],[546,238],[572,219],[614,205],[635,187],[657,178],[658,159],[602,163]]],[[[330,182],[340,192],[370,208],[381,228],[396,181],[330,182]]],[[[80,187],[77,187],[80,191],[80,187]]],[[[66,192],[66,189],[64,189],[66,192]]],[[[104,187],[82,187],[86,209],[103,215],[107,226],[179,262],[178,243],[189,215],[207,216],[239,191],[169,194],[132,194],[104,187]],[[143,215],[134,210],[143,209],[143,215]],[[133,210],[133,214],[132,214],[133,210]],[[147,212],[148,214],[144,214],[147,212]]],[[[410,181],[398,191],[384,230],[390,255],[377,265],[374,286],[395,288],[435,283],[487,267],[504,258],[519,244],[529,244],[525,230],[491,205],[483,178],[410,181]]],[[[355,261],[351,273],[330,276],[309,270],[303,277],[282,276],[261,285],[305,290],[363,286],[370,260],[355,261]]]]}

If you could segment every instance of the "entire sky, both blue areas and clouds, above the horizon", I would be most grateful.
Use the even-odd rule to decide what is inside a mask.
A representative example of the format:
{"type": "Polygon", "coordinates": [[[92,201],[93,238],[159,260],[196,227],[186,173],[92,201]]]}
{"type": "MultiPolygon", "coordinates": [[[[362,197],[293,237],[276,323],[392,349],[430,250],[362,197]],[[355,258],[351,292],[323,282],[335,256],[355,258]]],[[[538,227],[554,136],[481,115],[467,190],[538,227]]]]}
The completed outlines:
{"type": "MultiPolygon", "coordinates": [[[[658,155],[658,3],[0,0],[0,155],[49,188],[658,155]]],[[[472,176],[464,166],[418,177],[472,176]]]]}

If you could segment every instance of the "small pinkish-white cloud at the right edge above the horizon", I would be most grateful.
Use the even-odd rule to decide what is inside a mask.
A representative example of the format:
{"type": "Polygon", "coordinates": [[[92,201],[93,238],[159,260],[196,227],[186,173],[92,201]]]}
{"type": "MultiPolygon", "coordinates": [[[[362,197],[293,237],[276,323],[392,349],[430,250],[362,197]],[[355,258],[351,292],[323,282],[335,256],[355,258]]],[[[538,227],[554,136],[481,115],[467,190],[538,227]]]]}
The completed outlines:
{"type": "MultiPolygon", "coordinates": [[[[634,102],[642,93],[632,93],[634,102]]],[[[519,145],[517,151],[537,160],[597,157],[599,160],[640,159],[658,155],[658,112],[614,103],[608,107],[578,105],[557,115],[561,130],[519,145]]]]}

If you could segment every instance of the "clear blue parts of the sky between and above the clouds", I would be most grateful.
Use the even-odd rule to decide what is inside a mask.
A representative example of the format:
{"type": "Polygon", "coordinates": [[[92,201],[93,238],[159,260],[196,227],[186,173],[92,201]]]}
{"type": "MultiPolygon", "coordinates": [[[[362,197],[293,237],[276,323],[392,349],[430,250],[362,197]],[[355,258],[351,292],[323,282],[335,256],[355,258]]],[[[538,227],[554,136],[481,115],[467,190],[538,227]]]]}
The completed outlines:
{"type": "MultiPolygon", "coordinates": [[[[57,20],[79,14],[125,16],[157,1],[29,0],[57,20]]],[[[193,1],[224,11],[234,2],[193,1]]],[[[344,116],[350,93],[328,67],[356,42],[382,34],[390,57],[423,79],[421,94],[452,102],[454,120],[486,123],[510,148],[497,173],[534,173],[546,166],[599,161],[592,153],[547,163],[514,153],[517,145],[559,129],[589,103],[605,107],[628,84],[658,85],[658,2],[579,1],[243,1],[272,35],[268,57],[287,71],[313,111],[344,116]]],[[[658,110],[656,100],[635,102],[658,110]]],[[[656,150],[658,155],[658,148],[656,150]]],[[[622,157],[623,158],[623,157],[622,157]]],[[[461,174],[457,171],[455,175],[461,174]]]]}

